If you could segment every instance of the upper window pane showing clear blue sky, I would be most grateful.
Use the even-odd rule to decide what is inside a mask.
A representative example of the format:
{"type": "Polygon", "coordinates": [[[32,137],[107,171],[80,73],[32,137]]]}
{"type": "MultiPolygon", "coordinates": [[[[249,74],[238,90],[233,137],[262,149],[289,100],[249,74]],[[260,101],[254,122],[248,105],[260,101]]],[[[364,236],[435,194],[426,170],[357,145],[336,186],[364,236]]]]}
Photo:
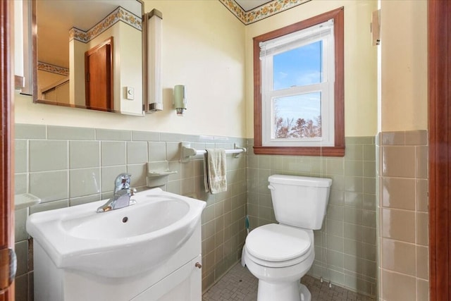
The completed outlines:
{"type": "Polygon", "coordinates": [[[273,90],[321,82],[321,49],[318,41],[273,56],[273,90]]]}

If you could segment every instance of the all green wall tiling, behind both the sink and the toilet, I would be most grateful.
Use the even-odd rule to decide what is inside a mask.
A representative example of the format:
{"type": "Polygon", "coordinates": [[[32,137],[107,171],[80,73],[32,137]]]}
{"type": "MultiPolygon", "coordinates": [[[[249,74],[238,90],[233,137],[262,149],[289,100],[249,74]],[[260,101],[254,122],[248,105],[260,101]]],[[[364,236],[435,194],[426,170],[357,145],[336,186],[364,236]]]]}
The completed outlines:
{"type": "Polygon", "coordinates": [[[25,231],[29,214],[107,199],[114,178],[125,171],[132,173],[133,186],[147,189],[147,161],[161,160],[178,171],[169,176],[165,190],[206,201],[202,214],[203,290],[239,261],[247,214],[251,229],[276,222],[267,179],[283,173],[333,179],[326,222],[321,231],[315,231],[316,260],[309,274],[374,295],[374,138],[347,137],[343,158],[257,156],[252,145],[252,139],[234,137],[16,124],[16,193],[34,193],[43,200],[16,211],[16,247],[20,250],[16,300],[32,300],[32,241],[25,231]],[[228,191],[210,195],[204,192],[202,156],[179,162],[181,141],[191,142],[196,149],[230,149],[237,143],[247,145],[249,152],[237,158],[228,155],[228,191]],[[54,157],[62,160],[54,162],[54,157]],[[95,181],[87,182],[88,174],[95,181]],[[44,184],[52,189],[43,189],[44,184]]]}

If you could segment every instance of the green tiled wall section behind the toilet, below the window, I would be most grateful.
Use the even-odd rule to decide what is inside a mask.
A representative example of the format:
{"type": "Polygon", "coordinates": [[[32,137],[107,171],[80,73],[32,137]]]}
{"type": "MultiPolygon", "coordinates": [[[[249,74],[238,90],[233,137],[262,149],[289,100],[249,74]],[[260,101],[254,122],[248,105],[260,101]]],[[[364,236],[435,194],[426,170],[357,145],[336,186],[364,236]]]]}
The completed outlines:
{"type": "MultiPolygon", "coordinates": [[[[247,157],[250,228],[276,223],[268,176],[276,173],[331,178],[323,227],[314,231],[311,276],[333,285],[376,294],[376,146],[374,137],[347,137],[344,157],[247,157]]],[[[248,140],[252,149],[253,140],[248,140]]]]}

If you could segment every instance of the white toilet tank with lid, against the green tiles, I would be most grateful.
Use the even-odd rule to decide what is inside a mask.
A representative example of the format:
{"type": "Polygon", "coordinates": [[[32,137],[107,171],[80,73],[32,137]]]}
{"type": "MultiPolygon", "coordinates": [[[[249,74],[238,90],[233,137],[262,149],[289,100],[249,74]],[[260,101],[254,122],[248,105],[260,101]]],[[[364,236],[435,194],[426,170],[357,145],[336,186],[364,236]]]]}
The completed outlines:
{"type": "Polygon", "coordinates": [[[279,223],[298,228],[321,229],[332,180],[273,175],[268,178],[274,214],[279,223]]]}

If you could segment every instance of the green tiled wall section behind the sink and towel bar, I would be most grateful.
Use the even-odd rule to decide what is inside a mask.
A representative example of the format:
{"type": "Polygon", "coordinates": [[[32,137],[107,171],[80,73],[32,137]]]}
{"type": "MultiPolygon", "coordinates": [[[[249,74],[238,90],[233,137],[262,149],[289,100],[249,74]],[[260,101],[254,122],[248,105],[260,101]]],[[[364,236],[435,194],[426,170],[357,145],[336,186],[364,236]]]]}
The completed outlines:
{"type": "Polygon", "coordinates": [[[247,156],[227,156],[228,191],[204,192],[202,156],[182,164],[180,142],[192,147],[233,148],[246,140],[173,133],[16,124],[16,194],[30,192],[42,203],[16,211],[16,301],[32,300],[32,240],[27,216],[50,209],[107,199],[118,173],[132,174],[132,186],[147,188],[147,161],[169,161],[163,190],[206,201],[202,214],[202,285],[205,290],[241,257],[247,214],[247,156]]]}

